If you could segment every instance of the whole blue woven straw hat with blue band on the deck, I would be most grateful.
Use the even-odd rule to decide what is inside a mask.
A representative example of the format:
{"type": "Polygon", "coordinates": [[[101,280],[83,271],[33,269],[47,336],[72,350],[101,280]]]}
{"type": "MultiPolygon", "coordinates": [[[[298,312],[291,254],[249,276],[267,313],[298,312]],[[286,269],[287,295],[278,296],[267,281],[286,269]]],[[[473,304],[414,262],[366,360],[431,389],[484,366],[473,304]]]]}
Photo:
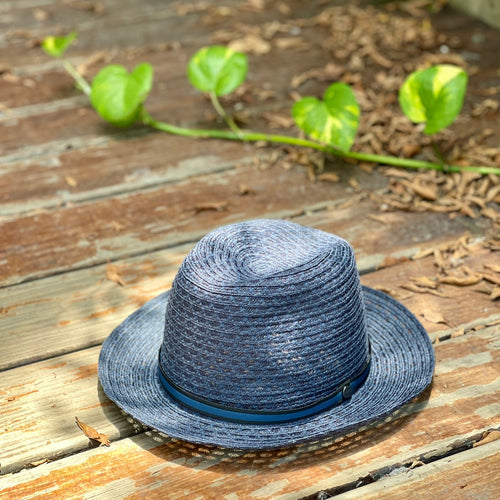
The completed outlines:
{"type": "Polygon", "coordinates": [[[356,430],[420,394],[433,370],[422,325],[361,286],[351,246],[283,220],[206,235],[99,358],[105,393],[142,424],[238,449],[356,430]]]}

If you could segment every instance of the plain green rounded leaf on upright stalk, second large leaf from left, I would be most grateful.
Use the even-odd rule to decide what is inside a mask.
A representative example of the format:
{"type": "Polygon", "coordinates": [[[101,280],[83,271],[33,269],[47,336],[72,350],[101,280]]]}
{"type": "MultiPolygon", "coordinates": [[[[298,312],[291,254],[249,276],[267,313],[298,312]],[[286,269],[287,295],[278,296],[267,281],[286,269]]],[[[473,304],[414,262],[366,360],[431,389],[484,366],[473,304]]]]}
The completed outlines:
{"type": "Polygon", "coordinates": [[[238,88],[245,80],[247,70],[245,54],[214,45],[196,52],[189,61],[187,74],[193,87],[221,96],[238,88]]]}

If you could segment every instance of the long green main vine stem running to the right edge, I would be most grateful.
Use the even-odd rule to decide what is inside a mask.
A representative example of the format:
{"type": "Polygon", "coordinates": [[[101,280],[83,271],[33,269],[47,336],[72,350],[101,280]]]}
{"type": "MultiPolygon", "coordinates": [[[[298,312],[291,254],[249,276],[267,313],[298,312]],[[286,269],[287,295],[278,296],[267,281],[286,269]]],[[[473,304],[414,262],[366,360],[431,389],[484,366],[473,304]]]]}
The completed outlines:
{"type": "Polygon", "coordinates": [[[244,131],[238,129],[238,133],[229,130],[212,130],[212,129],[192,129],[178,127],[170,123],[165,123],[155,120],[144,108],[141,110],[141,119],[145,125],[148,125],[156,130],[167,132],[169,134],[181,135],[184,137],[197,138],[214,138],[227,139],[231,141],[257,142],[265,141],[277,144],[290,144],[292,146],[301,146],[315,149],[323,153],[339,156],[341,158],[349,158],[358,161],[367,161],[372,163],[380,163],[382,165],[393,165],[406,168],[422,168],[427,170],[441,170],[446,172],[478,172],[483,175],[495,174],[500,175],[500,168],[486,166],[459,166],[459,165],[444,165],[442,163],[434,163],[430,161],[412,160],[408,158],[398,158],[395,156],[377,155],[371,153],[360,153],[356,151],[341,151],[339,149],[326,146],[319,142],[309,139],[300,139],[298,137],[290,137],[287,135],[263,134],[259,132],[244,131]]]}

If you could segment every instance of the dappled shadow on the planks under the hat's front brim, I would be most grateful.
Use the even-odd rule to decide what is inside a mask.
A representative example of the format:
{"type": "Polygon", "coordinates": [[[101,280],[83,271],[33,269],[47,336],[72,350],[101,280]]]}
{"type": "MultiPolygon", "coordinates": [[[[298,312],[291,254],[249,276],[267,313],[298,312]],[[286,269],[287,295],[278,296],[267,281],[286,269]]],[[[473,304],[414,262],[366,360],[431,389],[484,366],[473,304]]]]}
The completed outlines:
{"type": "MultiPolygon", "coordinates": [[[[173,439],[151,430],[130,415],[127,421],[134,426],[134,434],[145,431],[155,441],[151,446],[137,444],[162,461],[182,460],[183,466],[198,470],[210,469],[221,474],[238,473],[251,469],[286,472],[307,468],[332,460],[341,460],[349,455],[371,448],[408,425],[428,403],[432,383],[410,403],[383,420],[373,422],[343,435],[332,435],[318,441],[268,450],[238,450],[210,445],[201,445],[173,439]]],[[[105,396],[104,396],[105,397],[105,396]]],[[[112,411],[108,409],[108,411],[112,411]]]]}

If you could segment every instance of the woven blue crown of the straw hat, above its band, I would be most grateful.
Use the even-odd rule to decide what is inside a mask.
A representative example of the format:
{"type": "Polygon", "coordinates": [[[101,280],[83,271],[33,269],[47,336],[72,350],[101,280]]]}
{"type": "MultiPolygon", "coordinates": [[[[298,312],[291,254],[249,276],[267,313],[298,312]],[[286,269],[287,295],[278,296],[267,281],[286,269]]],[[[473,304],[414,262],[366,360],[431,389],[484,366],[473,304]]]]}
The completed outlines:
{"type": "Polygon", "coordinates": [[[168,299],[160,365],[178,387],[241,410],[313,404],[369,356],[351,246],[292,222],[205,236],[168,299]]]}

